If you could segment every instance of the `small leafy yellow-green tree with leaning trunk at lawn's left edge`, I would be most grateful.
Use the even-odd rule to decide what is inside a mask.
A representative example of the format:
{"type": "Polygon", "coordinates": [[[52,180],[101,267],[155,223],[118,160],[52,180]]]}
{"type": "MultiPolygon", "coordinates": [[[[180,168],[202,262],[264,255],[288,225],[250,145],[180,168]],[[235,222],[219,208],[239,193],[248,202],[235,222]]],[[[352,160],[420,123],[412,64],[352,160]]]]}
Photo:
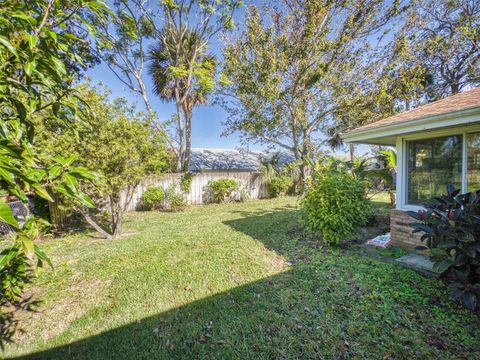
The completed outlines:
{"type": "Polygon", "coordinates": [[[110,225],[102,227],[84,207],[76,207],[86,221],[107,238],[118,237],[121,221],[135,186],[146,175],[164,172],[169,166],[165,133],[150,126],[150,118],[136,112],[124,99],[109,99],[109,92],[88,84],[79,88],[88,102],[90,116],[83,122],[61,127],[38,121],[36,147],[47,154],[77,156],[76,164],[95,170],[100,178],[80,186],[98,202],[105,202],[110,225]],[[93,131],[94,130],[94,131],[93,131]],[[125,199],[122,200],[122,192],[125,199]]]}

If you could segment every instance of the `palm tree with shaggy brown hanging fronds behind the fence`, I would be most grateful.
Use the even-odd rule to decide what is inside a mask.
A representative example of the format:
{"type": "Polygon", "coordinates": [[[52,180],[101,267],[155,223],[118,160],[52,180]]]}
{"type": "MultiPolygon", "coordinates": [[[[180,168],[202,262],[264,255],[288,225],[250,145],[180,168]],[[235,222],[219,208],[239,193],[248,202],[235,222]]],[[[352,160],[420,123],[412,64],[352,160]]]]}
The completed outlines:
{"type": "Polygon", "coordinates": [[[205,48],[196,31],[167,26],[149,54],[154,93],[176,105],[177,171],[188,171],[193,109],[204,104],[213,89],[216,59],[205,48]]]}

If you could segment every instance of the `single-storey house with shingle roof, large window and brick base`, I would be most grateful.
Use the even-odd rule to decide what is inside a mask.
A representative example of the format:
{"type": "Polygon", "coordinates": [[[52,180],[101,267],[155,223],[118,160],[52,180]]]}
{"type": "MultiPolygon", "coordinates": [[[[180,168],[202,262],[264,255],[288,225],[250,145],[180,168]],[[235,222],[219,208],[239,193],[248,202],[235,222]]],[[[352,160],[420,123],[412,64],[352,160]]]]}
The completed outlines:
{"type": "Polygon", "coordinates": [[[419,235],[412,234],[406,210],[421,209],[448,184],[462,192],[480,189],[480,88],[359,127],[343,139],[397,149],[391,242],[415,247],[419,235]]]}

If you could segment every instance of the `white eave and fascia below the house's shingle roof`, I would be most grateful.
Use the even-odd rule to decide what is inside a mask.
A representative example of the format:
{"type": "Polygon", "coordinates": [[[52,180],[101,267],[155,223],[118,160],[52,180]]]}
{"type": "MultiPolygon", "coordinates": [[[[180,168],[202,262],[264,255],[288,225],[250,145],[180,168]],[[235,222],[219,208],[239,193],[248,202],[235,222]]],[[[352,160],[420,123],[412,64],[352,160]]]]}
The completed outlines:
{"type": "Polygon", "coordinates": [[[352,130],[341,137],[346,142],[382,144],[384,141],[381,139],[385,138],[477,122],[480,122],[480,106],[365,130],[352,130]]]}

